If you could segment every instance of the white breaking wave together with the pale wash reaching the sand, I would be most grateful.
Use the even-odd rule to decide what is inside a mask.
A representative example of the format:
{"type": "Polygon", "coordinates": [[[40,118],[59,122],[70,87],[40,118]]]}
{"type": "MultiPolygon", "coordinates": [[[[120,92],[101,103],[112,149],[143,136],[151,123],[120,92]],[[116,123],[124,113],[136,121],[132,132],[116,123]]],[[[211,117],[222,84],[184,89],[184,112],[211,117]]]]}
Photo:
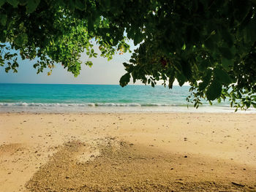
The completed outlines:
{"type": "MultiPolygon", "coordinates": [[[[229,106],[195,107],[178,104],[122,104],[122,103],[0,103],[0,112],[46,112],[46,113],[76,113],[76,112],[217,112],[233,113],[234,108],[229,106]]],[[[237,113],[256,113],[256,109],[238,110],[237,113]]]]}

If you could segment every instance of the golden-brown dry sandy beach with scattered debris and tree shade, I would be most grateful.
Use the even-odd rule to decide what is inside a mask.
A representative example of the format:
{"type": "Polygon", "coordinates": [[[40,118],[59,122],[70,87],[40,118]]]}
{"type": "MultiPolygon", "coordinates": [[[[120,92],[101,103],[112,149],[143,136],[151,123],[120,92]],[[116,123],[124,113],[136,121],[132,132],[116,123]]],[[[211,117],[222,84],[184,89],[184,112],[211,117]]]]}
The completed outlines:
{"type": "Polygon", "coordinates": [[[0,191],[256,191],[256,115],[1,113],[0,191]]]}

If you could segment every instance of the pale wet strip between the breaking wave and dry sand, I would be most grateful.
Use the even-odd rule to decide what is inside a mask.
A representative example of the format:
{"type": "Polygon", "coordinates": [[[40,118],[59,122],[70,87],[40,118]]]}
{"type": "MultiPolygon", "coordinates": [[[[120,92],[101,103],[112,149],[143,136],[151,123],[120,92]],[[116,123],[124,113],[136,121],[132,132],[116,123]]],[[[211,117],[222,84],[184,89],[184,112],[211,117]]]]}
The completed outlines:
{"type": "Polygon", "coordinates": [[[219,113],[219,114],[256,114],[256,109],[238,110],[230,107],[88,107],[88,108],[1,108],[0,114],[4,113],[30,113],[30,114],[79,114],[79,113],[219,113]]]}

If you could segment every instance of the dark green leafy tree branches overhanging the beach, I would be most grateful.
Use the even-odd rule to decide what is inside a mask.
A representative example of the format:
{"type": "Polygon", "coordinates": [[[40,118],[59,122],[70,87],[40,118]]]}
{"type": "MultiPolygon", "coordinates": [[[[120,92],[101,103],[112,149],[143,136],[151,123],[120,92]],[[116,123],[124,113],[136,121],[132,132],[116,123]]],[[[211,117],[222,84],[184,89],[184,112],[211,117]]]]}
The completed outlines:
{"type": "MultiPolygon", "coordinates": [[[[80,53],[109,59],[133,51],[125,86],[158,80],[191,85],[187,101],[230,99],[256,107],[255,0],[0,0],[0,65],[17,72],[18,56],[42,72],[62,64],[77,76],[80,53]],[[11,50],[16,50],[12,52],[11,50]]],[[[91,61],[86,61],[91,66],[91,61]]]]}

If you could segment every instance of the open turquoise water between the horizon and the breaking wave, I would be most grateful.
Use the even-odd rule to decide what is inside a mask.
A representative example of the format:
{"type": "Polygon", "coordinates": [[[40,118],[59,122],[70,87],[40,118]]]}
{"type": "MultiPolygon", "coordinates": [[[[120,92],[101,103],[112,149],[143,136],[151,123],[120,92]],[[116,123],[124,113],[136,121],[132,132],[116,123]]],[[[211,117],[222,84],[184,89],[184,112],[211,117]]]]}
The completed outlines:
{"type": "Polygon", "coordinates": [[[0,84],[1,103],[186,105],[189,87],[0,84]]]}

